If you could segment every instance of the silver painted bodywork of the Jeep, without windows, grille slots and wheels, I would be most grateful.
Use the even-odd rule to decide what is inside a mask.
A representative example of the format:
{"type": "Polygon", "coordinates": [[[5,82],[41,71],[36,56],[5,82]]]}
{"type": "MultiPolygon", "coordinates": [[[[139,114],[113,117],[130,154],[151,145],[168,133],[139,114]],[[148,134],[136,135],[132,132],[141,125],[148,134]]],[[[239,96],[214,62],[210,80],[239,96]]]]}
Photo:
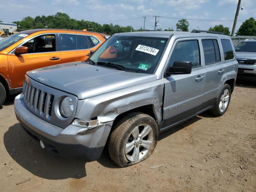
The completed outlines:
{"type": "MultiPolygon", "coordinates": [[[[32,131],[54,142],[103,149],[112,124],[119,115],[139,107],[150,106],[156,122],[159,125],[164,124],[162,128],[165,129],[174,125],[174,123],[168,124],[168,120],[196,109],[208,100],[216,99],[227,80],[236,80],[238,69],[236,57],[224,61],[220,42],[221,38],[230,40],[228,36],[186,32],[132,32],[118,35],[169,38],[154,74],[124,72],[83,62],[61,64],[28,72],[26,81],[29,84],[56,97],[53,101],[52,119],[48,119],[36,114],[31,106],[24,104],[23,94],[17,96],[14,102],[15,112],[23,126],[28,126],[32,131]],[[201,43],[201,39],[204,38],[218,40],[221,62],[205,66],[201,43]],[[193,68],[191,74],[165,78],[164,72],[175,44],[180,40],[192,39],[199,42],[202,66],[193,68]],[[218,75],[220,69],[225,70],[222,75],[218,75]],[[204,75],[205,78],[202,82],[195,83],[194,78],[198,75],[204,75]],[[37,79],[40,79],[40,82],[37,79]],[[58,116],[58,100],[62,96],[76,98],[75,111],[69,120],[58,116]],[[71,125],[72,120],[76,118],[84,120],[97,118],[99,125],[91,130],[71,125]]],[[[211,106],[212,104],[209,104],[198,111],[211,106]]],[[[99,150],[97,153],[101,154],[101,152],[102,150],[99,150]]],[[[99,157],[100,154],[93,155],[99,157]]]]}

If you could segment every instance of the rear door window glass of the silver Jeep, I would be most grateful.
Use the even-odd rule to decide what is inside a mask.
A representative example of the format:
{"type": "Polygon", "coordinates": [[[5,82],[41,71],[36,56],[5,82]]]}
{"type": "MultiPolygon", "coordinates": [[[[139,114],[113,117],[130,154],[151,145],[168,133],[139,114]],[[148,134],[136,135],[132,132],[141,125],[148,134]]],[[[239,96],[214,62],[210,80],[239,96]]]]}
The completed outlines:
{"type": "Polygon", "coordinates": [[[206,65],[220,61],[220,48],[216,39],[202,40],[206,65]]]}

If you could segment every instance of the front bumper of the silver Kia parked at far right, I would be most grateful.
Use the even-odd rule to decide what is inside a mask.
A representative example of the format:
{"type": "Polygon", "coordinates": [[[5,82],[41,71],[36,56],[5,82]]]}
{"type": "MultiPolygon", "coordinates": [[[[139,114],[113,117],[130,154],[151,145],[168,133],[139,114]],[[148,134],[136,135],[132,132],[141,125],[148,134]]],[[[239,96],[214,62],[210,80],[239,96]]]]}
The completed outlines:
{"type": "Polygon", "coordinates": [[[256,65],[238,65],[237,78],[241,80],[256,80],[256,65]]]}

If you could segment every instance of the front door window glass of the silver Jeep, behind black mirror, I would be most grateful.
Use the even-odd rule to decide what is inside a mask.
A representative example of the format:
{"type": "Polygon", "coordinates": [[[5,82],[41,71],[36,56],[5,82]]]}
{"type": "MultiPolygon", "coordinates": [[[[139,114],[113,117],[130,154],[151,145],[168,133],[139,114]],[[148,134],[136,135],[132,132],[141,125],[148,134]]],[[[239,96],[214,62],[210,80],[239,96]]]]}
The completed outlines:
{"type": "Polygon", "coordinates": [[[200,66],[199,45],[197,40],[178,42],[172,52],[169,66],[175,61],[191,61],[192,67],[200,66]]]}

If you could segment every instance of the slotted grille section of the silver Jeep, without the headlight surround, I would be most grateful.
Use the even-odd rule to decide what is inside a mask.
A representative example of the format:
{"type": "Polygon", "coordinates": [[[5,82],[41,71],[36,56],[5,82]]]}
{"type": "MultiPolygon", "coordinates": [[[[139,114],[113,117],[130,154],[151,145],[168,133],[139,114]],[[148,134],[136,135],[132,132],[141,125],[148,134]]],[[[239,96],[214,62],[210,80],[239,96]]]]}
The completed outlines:
{"type": "Polygon", "coordinates": [[[54,95],[37,89],[26,81],[23,86],[23,94],[24,103],[30,110],[50,120],[54,95]]]}

